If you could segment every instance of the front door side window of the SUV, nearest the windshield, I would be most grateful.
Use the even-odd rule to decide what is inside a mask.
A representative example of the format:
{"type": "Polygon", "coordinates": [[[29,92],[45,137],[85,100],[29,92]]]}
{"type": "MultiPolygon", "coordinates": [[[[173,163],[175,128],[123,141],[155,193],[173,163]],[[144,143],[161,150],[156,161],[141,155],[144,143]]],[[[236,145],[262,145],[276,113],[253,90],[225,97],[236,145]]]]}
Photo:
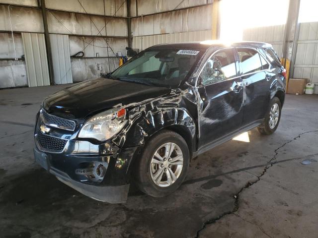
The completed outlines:
{"type": "Polygon", "coordinates": [[[219,51],[214,54],[201,72],[203,85],[217,83],[237,75],[234,52],[232,49],[219,51]]]}

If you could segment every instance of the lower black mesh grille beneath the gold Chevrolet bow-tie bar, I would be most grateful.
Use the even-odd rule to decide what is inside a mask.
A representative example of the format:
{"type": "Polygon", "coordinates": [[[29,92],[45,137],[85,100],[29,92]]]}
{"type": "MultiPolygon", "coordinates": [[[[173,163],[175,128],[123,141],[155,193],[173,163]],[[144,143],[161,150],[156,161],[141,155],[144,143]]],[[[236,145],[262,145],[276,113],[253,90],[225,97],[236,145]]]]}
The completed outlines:
{"type": "Polygon", "coordinates": [[[62,152],[68,140],[49,136],[43,134],[40,130],[38,130],[38,142],[44,149],[55,152],[62,152]]]}

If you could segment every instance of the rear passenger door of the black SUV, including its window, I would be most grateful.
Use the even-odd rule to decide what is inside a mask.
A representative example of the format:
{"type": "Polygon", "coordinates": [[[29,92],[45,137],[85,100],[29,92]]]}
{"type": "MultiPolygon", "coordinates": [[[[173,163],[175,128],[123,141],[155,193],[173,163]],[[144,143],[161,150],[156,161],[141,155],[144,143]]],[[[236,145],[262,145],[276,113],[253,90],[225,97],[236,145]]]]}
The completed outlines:
{"type": "Polygon", "coordinates": [[[270,100],[269,81],[266,73],[269,64],[256,49],[237,48],[241,79],[244,84],[243,125],[264,118],[264,112],[270,100]]]}

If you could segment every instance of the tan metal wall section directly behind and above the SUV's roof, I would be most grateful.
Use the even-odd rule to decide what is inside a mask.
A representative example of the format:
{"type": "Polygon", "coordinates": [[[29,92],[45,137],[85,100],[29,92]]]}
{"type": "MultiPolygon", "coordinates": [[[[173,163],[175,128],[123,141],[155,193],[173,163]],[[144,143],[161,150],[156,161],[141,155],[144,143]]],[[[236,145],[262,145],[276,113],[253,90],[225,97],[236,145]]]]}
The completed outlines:
{"type": "Polygon", "coordinates": [[[144,50],[163,43],[210,40],[212,2],[131,0],[132,16],[138,16],[132,18],[132,47],[144,50]]]}

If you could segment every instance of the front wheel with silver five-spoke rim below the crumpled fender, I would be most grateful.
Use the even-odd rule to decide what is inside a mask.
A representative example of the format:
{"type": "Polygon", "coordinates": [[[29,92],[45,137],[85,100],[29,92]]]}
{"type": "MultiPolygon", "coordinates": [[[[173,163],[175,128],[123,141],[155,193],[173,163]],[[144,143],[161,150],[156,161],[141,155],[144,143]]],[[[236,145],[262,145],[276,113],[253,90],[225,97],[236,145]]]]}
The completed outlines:
{"type": "Polygon", "coordinates": [[[146,143],[142,156],[136,163],[135,184],[141,191],[150,196],[166,196],[181,185],[186,177],[189,162],[189,149],[183,137],[173,131],[162,130],[146,143]],[[171,148],[169,146],[173,146],[173,144],[174,149],[167,159],[165,158],[165,152],[167,148],[171,148]],[[159,149],[160,147],[161,149],[159,149]],[[160,155],[162,160],[157,157],[157,154],[155,156],[156,152],[158,152],[157,154],[160,155]],[[182,153],[183,156],[182,167],[180,153],[182,153]],[[174,173],[175,177],[172,177],[171,172],[174,173]],[[171,182],[170,179],[168,180],[168,175],[170,175],[171,180],[174,180],[173,182],[171,182]],[[166,180],[166,182],[164,182],[164,180],[166,180]]]}

